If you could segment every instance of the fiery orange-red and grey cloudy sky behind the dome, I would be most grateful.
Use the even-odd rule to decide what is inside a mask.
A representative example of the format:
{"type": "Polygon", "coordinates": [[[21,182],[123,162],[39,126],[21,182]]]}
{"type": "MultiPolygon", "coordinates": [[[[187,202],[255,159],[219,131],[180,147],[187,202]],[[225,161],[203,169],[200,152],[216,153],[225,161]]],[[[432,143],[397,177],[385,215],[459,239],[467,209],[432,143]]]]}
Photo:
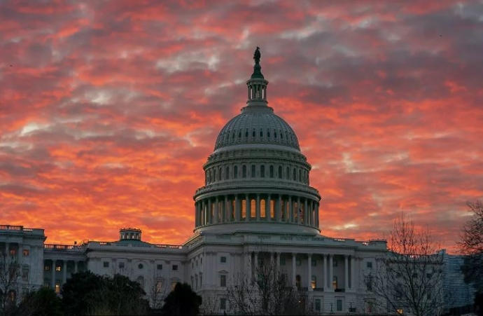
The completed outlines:
{"type": "Polygon", "coordinates": [[[483,198],[482,1],[0,1],[0,224],[48,243],[193,234],[218,132],[267,96],[322,195],[321,233],[441,247],[483,198]]]}

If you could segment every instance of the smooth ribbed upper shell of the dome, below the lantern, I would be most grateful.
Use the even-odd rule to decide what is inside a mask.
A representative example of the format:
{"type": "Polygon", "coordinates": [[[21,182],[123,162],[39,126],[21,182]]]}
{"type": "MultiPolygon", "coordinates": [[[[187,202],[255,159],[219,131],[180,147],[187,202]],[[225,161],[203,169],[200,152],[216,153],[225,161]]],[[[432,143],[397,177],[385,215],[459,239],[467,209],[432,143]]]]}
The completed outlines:
{"type": "Polygon", "coordinates": [[[271,107],[247,106],[218,134],[215,150],[241,144],[279,144],[300,151],[290,125],[276,116],[271,107]]]}

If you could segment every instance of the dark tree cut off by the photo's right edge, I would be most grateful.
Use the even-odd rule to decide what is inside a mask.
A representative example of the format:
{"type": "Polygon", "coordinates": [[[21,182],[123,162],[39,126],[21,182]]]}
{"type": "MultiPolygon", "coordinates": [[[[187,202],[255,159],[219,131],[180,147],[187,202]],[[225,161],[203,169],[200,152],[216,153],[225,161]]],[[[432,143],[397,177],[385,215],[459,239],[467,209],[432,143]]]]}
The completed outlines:
{"type": "Polygon", "coordinates": [[[483,203],[468,202],[473,216],[463,226],[458,245],[465,254],[463,274],[465,281],[473,283],[479,294],[483,294],[483,203]]]}

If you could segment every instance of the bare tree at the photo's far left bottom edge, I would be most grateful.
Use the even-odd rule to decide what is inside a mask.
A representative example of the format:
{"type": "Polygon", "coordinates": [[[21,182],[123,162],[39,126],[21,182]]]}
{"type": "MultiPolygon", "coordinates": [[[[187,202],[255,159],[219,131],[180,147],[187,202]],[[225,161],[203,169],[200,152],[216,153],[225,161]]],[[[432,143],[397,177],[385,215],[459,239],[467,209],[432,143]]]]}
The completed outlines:
{"type": "Polygon", "coordinates": [[[17,303],[20,263],[15,256],[0,254],[0,315],[10,315],[17,303]]]}

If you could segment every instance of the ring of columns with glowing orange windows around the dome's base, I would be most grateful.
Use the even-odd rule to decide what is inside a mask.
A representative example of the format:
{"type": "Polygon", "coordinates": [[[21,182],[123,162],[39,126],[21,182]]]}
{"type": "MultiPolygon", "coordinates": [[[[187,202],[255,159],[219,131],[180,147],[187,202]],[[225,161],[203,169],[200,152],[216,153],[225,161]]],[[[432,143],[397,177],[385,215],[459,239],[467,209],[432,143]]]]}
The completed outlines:
{"type": "Polygon", "coordinates": [[[196,227],[233,221],[274,221],[318,227],[318,201],[295,195],[221,195],[196,201],[195,210],[196,227]]]}

